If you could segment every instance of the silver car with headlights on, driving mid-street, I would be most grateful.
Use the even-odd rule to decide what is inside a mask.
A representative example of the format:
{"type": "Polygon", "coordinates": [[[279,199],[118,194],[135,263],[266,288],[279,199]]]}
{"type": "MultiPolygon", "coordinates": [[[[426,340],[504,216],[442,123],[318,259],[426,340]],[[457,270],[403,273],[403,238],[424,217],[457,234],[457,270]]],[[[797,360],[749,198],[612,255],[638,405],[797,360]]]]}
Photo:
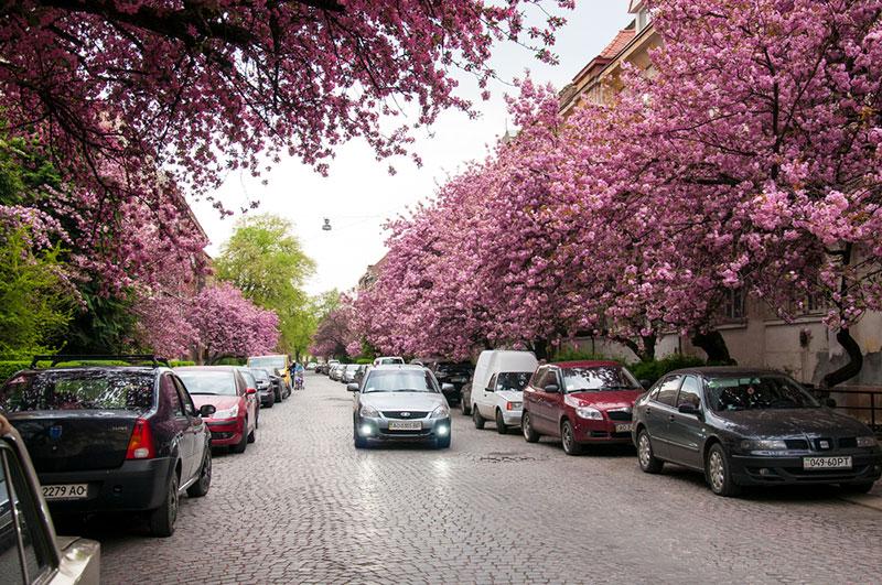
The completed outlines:
{"type": "Polygon", "coordinates": [[[450,407],[432,372],[420,366],[377,366],[368,370],[354,401],[353,441],[429,441],[450,446],[450,407]]]}

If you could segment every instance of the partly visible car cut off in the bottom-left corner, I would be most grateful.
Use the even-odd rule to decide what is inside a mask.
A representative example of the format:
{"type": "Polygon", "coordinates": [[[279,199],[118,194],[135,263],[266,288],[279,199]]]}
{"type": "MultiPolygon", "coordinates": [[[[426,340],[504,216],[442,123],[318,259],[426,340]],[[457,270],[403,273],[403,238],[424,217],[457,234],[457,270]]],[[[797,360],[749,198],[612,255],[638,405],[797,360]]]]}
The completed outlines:
{"type": "Polygon", "coordinates": [[[55,534],[24,442],[0,416],[0,429],[3,427],[0,431],[0,581],[28,585],[99,583],[100,544],[55,534]]]}

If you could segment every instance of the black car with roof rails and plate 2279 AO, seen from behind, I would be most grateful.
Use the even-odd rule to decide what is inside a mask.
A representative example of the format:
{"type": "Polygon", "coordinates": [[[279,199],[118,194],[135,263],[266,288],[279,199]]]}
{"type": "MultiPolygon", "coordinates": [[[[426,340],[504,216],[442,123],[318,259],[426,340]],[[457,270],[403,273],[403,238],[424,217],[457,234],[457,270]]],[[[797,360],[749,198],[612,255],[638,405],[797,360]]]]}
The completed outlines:
{"type": "MultiPolygon", "coordinates": [[[[118,357],[115,357],[118,359],[118,357]]],[[[168,367],[22,370],[0,388],[54,514],[147,512],[154,535],[174,532],[180,494],[207,494],[212,435],[168,367]]]]}

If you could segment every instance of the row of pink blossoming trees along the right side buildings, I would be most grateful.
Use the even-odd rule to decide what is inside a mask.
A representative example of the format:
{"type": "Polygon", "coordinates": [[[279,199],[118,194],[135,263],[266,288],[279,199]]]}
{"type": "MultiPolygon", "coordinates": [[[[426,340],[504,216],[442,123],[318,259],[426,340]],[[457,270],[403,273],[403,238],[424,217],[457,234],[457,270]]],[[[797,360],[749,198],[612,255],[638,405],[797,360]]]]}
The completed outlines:
{"type": "Polygon", "coordinates": [[[882,308],[882,1],[650,4],[653,76],[626,68],[612,104],[566,119],[524,82],[517,138],[392,223],[356,303],[372,344],[461,357],[592,333],[648,358],[663,332],[712,339],[743,288],[785,318],[824,299],[860,359],[849,327],[882,308]]]}

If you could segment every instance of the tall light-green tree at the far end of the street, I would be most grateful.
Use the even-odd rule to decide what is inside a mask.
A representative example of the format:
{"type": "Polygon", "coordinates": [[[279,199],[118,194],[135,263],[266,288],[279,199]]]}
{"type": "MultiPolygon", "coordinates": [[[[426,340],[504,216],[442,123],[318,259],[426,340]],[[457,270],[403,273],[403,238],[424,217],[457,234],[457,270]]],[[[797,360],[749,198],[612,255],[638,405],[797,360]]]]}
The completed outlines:
{"type": "Polygon", "coordinates": [[[284,218],[244,217],[215,262],[217,277],[255,304],[279,315],[280,349],[300,358],[315,331],[313,305],[303,285],[315,271],[284,218]]]}

